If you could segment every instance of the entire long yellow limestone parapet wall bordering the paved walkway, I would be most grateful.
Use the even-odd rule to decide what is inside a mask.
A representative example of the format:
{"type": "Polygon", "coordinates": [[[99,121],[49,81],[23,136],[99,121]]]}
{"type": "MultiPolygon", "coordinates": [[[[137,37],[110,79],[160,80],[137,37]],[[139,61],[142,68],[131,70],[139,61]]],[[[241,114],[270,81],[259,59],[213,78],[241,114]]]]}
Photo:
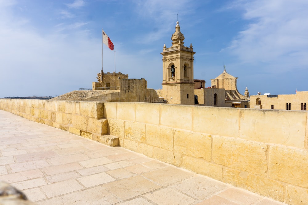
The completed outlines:
{"type": "Polygon", "coordinates": [[[308,201],[307,112],[0,99],[0,109],[288,203],[308,201]],[[107,120],[99,120],[106,118],[107,120]]]}

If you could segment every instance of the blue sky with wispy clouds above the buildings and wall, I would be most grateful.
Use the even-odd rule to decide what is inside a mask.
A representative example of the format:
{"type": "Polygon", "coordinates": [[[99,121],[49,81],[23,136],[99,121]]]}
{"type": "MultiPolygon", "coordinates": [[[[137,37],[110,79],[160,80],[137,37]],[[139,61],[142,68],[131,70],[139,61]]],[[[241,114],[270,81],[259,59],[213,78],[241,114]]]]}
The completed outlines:
{"type": "Polygon", "coordinates": [[[162,88],[164,44],[177,14],[193,45],[194,78],[223,72],[244,94],[306,91],[307,0],[0,0],[0,97],[59,96],[91,88],[101,70],[162,88]]]}

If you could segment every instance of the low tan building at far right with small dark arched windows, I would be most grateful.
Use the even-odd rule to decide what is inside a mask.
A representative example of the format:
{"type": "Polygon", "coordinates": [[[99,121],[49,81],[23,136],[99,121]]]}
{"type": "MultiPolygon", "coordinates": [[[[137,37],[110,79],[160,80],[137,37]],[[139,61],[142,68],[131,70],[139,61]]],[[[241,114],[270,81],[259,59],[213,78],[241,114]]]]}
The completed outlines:
{"type": "Polygon", "coordinates": [[[252,95],[250,104],[258,109],[307,110],[308,91],[290,95],[252,95]]]}

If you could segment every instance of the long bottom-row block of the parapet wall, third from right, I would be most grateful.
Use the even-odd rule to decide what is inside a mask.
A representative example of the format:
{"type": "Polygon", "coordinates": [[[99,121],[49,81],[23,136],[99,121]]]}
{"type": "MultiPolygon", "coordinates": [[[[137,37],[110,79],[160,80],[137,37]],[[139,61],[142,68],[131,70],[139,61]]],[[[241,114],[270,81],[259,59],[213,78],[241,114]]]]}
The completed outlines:
{"type": "Polygon", "coordinates": [[[204,159],[183,156],[181,167],[222,181],[222,166],[209,163],[204,159]]]}

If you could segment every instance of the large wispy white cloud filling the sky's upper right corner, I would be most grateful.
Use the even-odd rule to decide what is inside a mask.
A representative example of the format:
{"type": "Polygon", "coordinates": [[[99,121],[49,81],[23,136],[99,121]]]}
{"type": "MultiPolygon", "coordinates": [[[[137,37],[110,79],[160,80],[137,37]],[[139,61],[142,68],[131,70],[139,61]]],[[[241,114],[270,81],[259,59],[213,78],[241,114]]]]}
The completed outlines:
{"type": "Polygon", "coordinates": [[[268,63],[272,71],[306,66],[308,19],[306,0],[236,1],[251,21],[232,41],[229,51],[242,63],[268,63]]]}

